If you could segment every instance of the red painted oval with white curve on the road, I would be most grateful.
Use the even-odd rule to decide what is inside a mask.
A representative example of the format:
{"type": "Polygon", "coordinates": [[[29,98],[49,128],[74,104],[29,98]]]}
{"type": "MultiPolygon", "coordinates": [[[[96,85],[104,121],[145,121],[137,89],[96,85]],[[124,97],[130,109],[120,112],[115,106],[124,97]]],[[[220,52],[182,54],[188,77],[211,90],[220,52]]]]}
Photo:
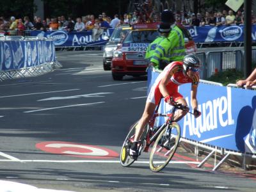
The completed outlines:
{"type": "Polygon", "coordinates": [[[118,157],[118,153],[105,147],[96,145],[84,145],[80,143],[71,143],[63,141],[47,141],[37,143],[36,148],[50,152],[52,154],[61,154],[65,156],[90,158],[90,159],[109,159],[118,157]]]}

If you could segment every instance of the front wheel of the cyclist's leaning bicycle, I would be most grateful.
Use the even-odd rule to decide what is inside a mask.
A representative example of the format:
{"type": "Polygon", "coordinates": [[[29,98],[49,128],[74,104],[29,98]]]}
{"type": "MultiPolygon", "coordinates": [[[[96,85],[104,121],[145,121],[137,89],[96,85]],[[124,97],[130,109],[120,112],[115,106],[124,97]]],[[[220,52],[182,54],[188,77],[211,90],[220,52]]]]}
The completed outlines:
{"type": "Polygon", "coordinates": [[[172,159],[179,145],[180,126],[177,123],[166,125],[163,131],[157,136],[150,152],[150,170],[159,172],[172,159]]]}

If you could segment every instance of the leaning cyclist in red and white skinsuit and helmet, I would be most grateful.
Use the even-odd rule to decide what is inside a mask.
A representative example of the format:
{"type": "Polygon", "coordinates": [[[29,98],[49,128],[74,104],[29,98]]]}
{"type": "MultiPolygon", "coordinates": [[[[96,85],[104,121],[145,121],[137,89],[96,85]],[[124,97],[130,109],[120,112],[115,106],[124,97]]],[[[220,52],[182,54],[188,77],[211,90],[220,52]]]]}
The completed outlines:
{"type": "MultiPolygon", "coordinates": [[[[188,54],[182,61],[173,61],[167,65],[163,72],[159,74],[148,94],[143,115],[136,126],[134,141],[129,150],[129,155],[133,159],[138,158],[138,141],[145,129],[145,125],[154,115],[154,110],[162,97],[168,104],[172,104],[173,99],[175,102],[188,106],[184,97],[178,92],[178,87],[181,84],[191,83],[191,105],[193,113],[195,118],[201,115],[200,111],[197,110],[198,102],[196,99],[200,67],[201,62],[195,54],[188,54]]],[[[188,111],[177,110],[174,116],[175,122],[178,122],[186,113],[188,111]]]]}

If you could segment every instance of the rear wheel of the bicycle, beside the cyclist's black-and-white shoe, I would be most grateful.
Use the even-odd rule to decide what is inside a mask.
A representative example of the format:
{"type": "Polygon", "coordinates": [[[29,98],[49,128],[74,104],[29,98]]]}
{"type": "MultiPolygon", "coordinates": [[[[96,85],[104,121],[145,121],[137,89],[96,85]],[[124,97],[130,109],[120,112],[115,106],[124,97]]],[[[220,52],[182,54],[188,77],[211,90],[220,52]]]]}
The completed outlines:
{"type": "Polygon", "coordinates": [[[132,141],[135,135],[135,127],[137,124],[138,122],[132,125],[129,133],[127,134],[124,140],[124,143],[120,152],[120,163],[122,164],[122,166],[130,166],[135,161],[129,156],[129,148],[131,148],[132,141]]]}

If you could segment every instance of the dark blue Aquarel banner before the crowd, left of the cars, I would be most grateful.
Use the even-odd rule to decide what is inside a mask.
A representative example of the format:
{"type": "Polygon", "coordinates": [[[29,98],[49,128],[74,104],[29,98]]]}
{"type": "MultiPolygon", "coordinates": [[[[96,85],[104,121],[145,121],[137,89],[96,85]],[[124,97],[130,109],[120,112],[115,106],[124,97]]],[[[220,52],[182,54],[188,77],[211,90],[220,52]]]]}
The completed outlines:
{"type": "Polygon", "coordinates": [[[103,40],[103,36],[111,36],[114,29],[106,29],[102,35],[100,35],[97,41],[93,41],[92,30],[90,31],[71,31],[58,30],[58,31],[31,31],[31,36],[39,36],[52,38],[54,40],[55,47],[78,47],[78,46],[93,46],[93,45],[106,45],[108,41],[103,40]]]}

